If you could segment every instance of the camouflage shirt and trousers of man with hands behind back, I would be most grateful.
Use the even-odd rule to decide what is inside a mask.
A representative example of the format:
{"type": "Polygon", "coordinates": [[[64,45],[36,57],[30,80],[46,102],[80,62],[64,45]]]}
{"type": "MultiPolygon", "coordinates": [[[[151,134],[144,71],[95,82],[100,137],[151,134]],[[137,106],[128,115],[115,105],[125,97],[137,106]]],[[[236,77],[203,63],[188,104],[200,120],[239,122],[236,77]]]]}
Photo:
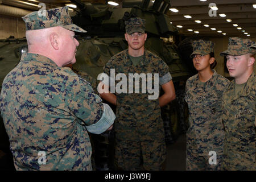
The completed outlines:
{"type": "MultiPolygon", "coordinates": [[[[128,50],[119,52],[113,56],[104,67],[104,73],[110,76],[110,69],[115,69],[115,75],[124,73],[127,78],[129,73],[159,73],[159,78],[169,73],[169,68],[166,63],[158,56],[152,54],[145,49],[144,59],[133,65],[129,59],[128,50]]],[[[170,81],[170,80],[168,80],[170,81]]],[[[128,82],[128,79],[127,79],[128,82]]],[[[154,76],[152,77],[154,83],[154,76]]],[[[115,85],[118,81],[115,81],[115,85]]],[[[127,87],[128,87],[127,83],[127,87]]],[[[141,79],[140,79],[140,85],[141,79]]],[[[160,89],[160,86],[159,86],[160,89]]],[[[128,90],[128,88],[127,88],[128,90]]],[[[133,166],[139,162],[127,162],[125,159],[131,159],[142,150],[144,164],[154,168],[152,160],[156,160],[158,170],[166,158],[166,143],[164,138],[163,121],[160,114],[159,98],[156,100],[148,100],[148,93],[115,93],[117,96],[116,120],[114,123],[115,138],[117,140],[117,147],[115,148],[115,158],[117,158],[118,166],[122,169],[134,169],[139,166],[133,166]],[[141,150],[130,151],[130,148],[125,148],[120,141],[141,142],[141,150]],[[151,146],[152,141],[158,143],[155,148],[151,146]],[[118,147],[120,146],[120,147],[118,147]],[[123,155],[127,156],[123,156],[123,155]],[[132,156],[129,156],[131,154],[132,156]],[[148,156],[149,155],[149,156],[148,156]],[[154,157],[156,156],[156,157],[154,157]],[[157,159],[156,159],[157,158],[157,159]],[[127,166],[129,165],[129,166],[127,166]]],[[[137,149],[138,150],[138,149],[137,149]]],[[[140,155],[141,156],[141,155],[140,155]]],[[[135,157],[135,159],[137,159],[135,157]]],[[[147,168],[144,166],[144,168],[147,168]]]]}

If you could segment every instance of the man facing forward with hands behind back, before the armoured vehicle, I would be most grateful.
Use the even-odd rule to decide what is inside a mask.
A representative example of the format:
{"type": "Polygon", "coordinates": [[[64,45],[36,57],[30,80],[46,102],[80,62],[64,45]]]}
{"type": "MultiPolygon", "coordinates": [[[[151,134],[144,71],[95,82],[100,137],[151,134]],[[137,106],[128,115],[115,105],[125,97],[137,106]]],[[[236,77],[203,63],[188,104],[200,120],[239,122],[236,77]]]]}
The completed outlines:
{"type": "MultiPolygon", "coordinates": [[[[117,168],[161,170],[166,159],[166,143],[160,106],[174,100],[174,84],[167,64],[160,57],[144,49],[147,34],[143,19],[130,18],[126,21],[125,39],[128,49],[111,57],[104,67],[104,73],[109,79],[113,79],[110,77],[110,69],[114,69],[116,75],[124,73],[127,78],[129,73],[159,74],[159,85],[163,88],[164,94],[155,100],[148,99],[148,92],[100,94],[106,101],[117,106],[117,119],[114,124],[117,168]]],[[[142,85],[141,80],[139,85],[142,85]]],[[[152,77],[151,84],[156,81],[158,80],[152,77]]],[[[109,88],[108,80],[102,82],[104,87],[109,88]]]]}

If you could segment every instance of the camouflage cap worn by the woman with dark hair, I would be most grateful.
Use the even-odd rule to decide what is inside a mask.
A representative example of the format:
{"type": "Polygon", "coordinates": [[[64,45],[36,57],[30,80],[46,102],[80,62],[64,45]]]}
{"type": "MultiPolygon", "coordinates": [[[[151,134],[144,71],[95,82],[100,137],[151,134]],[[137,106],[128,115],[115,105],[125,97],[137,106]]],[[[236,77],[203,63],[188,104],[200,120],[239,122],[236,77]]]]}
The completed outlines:
{"type": "Polygon", "coordinates": [[[195,40],[192,43],[193,52],[190,55],[208,55],[210,52],[214,52],[214,43],[208,40],[195,40]]]}

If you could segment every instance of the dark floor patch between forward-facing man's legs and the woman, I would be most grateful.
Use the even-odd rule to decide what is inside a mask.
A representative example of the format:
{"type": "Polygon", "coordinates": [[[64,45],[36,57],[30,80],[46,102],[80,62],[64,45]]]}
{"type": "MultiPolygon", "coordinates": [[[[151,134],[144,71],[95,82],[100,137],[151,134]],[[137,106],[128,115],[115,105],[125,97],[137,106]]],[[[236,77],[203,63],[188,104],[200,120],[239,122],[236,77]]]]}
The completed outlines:
{"type": "Polygon", "coordinates": [[[182,134],[175,143],[167,146],[167,157],[164,170],[183,171],[185,170],[186,158],[186,135],[182,134]]]}

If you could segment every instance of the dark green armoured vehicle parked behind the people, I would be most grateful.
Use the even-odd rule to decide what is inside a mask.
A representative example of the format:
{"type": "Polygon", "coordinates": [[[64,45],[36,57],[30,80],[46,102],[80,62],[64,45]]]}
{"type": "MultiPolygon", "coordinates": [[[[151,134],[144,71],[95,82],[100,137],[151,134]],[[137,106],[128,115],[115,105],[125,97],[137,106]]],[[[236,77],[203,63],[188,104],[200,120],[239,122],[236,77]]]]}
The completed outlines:
{"type": "MultiPolygon", "coordinates": [[[[167,63],[175,85],[176,100],[162,108],[166,142],[173,142],[188,127],[185,122],[188,111],[184,109],[184,86],[191,71],[180,59],[175,44],[168,41],[170,37],[175,39],[177,35],[177,28],[170,24],[171,19],[166,15],[171,6],[170,1],[122,1],[122,8],[92,5],[79,0],[71,2],[77,5],[77,10],[71,14],[73,23],[88,31],[76,34],[80,46],[77,48],[77,61],[73,64],[73,69],[86,72],[95,80],[110,57],[127,49],[124,38],[125,20],[132,17],[146,20],[148,36],[145,47],[167,63]]],[[[18,64],[23,51],[27,51],[26,39],[0,41],[0,68],[3,71],[0,73],[0,85],[7,73],[18,64]],[[2,69],[3,67],[6,69],[2,69]]],[[[111,168],[112,134],[113,132],[106,132],[97,137],[92,135],[94,148],[97,148],[94,159],[98,170],[111,168]]]]}

